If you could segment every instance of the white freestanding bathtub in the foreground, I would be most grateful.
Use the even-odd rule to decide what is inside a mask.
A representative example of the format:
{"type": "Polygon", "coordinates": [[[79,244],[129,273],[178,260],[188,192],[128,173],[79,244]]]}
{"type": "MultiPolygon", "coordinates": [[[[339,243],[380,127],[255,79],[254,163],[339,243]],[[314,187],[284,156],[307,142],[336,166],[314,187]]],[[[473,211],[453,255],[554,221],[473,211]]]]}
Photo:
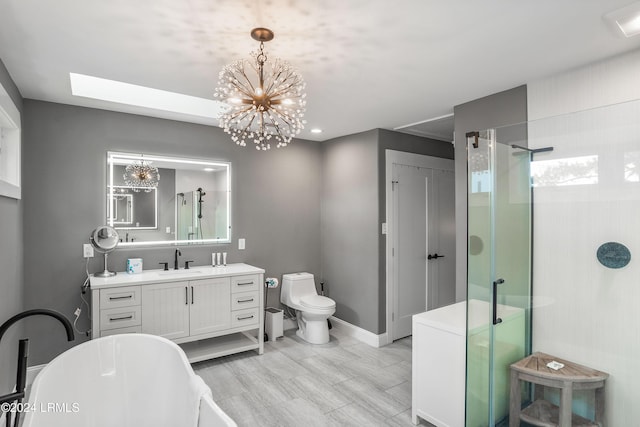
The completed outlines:
{"type": "Polygon", "coordinates": [[[123,334],[80,344],[40,371],[24,427],[236,426],[175,343],[123,334]]]}

